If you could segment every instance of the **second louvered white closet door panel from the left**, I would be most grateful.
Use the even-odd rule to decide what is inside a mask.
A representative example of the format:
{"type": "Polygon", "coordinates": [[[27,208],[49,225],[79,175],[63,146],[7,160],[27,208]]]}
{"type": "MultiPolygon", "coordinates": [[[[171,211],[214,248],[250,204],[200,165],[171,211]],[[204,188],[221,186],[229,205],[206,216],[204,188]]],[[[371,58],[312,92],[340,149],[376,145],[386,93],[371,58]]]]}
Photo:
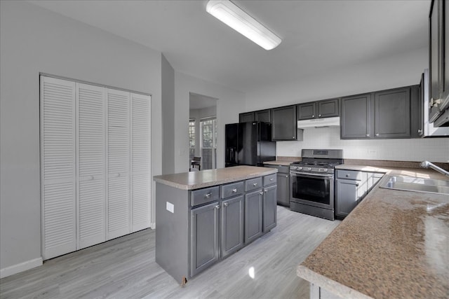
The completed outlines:
{"type": "Polygon", "coordinates": [[[76,83],[78,247],[106,240],[105,88],[76,83]]]}

